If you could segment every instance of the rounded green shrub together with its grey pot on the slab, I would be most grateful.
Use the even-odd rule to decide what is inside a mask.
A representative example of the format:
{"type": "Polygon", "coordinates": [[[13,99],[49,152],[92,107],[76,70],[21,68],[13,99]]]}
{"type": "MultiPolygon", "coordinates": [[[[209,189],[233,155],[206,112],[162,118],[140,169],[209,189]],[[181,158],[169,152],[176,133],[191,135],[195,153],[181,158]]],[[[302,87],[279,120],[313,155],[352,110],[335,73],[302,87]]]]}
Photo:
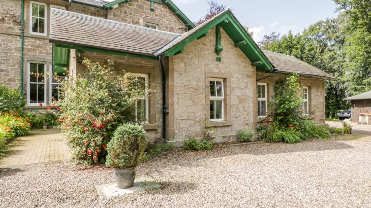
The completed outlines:
{"type": "Polygon", "coordinates": [[[137,124],[123,124],[107,144],[106,165],[113,168],[118,188],[130,188],[135,180],[135,168],[142,160],[147,146],[145,131],[137,124]]]}

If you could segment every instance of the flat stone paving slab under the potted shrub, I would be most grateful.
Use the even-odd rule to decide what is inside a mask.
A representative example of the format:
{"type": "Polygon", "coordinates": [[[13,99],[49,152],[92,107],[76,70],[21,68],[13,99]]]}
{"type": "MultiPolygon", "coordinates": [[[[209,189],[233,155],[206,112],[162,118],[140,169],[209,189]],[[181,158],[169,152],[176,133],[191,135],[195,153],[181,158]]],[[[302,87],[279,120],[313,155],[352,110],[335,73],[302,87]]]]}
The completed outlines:
{"type": "Polygon", "coordinates": [[[134,186],[128,189],[118,188],[116,183],[95,185],[97,193],[101,198],[112,198],[115,196],[132,194],[135,192],[148,191],[161,188],[162,186],[151,177],[146,176],[135,179],[134,186]]]}

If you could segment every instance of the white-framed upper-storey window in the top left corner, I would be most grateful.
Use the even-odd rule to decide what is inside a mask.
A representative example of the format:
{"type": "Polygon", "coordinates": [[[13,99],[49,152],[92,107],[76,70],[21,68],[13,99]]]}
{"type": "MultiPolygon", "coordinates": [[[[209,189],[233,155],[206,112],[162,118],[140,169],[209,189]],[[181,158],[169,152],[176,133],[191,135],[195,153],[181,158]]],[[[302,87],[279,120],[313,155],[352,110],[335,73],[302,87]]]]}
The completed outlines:
{"type": "Polygon", "coordinates": [[[29,33],[46,36],[46,4],[30,2],[29,33]]]}

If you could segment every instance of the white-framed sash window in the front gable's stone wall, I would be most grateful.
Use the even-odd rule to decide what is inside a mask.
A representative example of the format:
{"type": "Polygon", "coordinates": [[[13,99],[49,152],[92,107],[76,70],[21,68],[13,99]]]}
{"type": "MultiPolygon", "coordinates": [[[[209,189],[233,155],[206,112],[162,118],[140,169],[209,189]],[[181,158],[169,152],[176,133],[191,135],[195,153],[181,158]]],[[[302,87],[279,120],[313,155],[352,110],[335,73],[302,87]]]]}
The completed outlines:
{"type": "Polygon", "coordinates": [[[224,121],[223,79],[210,79],[210,121],[224,121]]]}

